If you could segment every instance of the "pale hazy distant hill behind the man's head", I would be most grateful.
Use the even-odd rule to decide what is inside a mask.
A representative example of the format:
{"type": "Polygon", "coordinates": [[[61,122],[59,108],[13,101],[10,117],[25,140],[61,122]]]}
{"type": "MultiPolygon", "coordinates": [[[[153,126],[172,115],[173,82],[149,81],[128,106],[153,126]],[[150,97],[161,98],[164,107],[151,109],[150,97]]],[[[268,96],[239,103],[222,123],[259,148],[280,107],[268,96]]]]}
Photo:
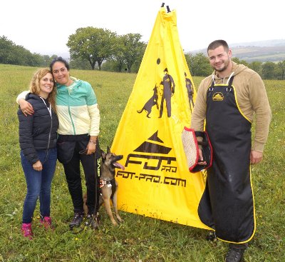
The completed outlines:
{"type": "MultiPolygon", "coordinates": [[[[254,41],[247,43],[229,44],[232,49],[232,56],[247,62],[285,60],[285,39],[273,39],[267,41],[254,41]]],[[[207,49],[190,51],[192,54],[199,52],[207,55],[207,49]]]]}

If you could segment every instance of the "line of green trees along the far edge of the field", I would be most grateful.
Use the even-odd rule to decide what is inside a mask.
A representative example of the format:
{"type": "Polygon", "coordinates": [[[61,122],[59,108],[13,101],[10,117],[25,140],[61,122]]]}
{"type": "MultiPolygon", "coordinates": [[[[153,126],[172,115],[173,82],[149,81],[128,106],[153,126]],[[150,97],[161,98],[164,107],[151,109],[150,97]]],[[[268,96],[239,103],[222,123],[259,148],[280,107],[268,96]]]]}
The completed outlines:
{"type": "MultiPolygon", "coordinates": [[[[68,38],[72,69],[98,69],[104,71],[138,73],[142,56],[147,44],[141,41],[140,34],[118,35],[108,29],[88,26],[79,28],[68,38]]],[[[56,57],[32,54],[23,46],[14,44],[6,36],[0,37],[0,64],[21,66],[48,66],[56,57]]],[[[209,59],[203,53],[186,53],[185,58],[192,76],[209,76],[212,68],[209,59]]],[[[244,64],[257,71],[262,79],[281,79],[285,77],[285,60],[274,63],[233,58],[237,64],[244,64]]]]}

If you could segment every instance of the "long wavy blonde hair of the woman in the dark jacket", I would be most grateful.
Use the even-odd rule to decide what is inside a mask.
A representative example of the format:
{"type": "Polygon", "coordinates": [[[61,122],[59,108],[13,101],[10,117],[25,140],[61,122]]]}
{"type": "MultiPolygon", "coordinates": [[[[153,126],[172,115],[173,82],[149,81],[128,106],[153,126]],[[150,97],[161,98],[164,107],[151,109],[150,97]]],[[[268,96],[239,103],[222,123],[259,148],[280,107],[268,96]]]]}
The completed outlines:
{"type": "MultiPolygon", "coordinates": [[[[33,78],[31,79],[31,84],[30,84],[30,88],[29,91],[32,94],[40,94],[41,88],[40,88],[40,81],[43,78],[43,76],[46,76],[46,74],[51,74],[51,76],[53,76],[53,74],[51,73],[51,71],[49,69],[38,69],[38,71],[36,71],[36,73],[33,75],[33,78]]],[[[51,91],[50,94],[48,94],[48,103],[51,104],[51,108],[53,109],[53,111],[56,112],[56,83],[53,79],[53,91],[51,91]]]]}

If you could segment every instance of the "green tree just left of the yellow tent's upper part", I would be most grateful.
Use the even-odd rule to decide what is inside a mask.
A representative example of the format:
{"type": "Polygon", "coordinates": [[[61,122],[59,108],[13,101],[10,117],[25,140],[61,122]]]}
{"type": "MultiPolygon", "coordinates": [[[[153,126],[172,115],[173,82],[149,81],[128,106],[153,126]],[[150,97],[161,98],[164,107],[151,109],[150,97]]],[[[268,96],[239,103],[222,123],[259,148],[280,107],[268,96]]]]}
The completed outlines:
{"type": "Polygon", "coordinates": [[[123,44],[123,59],[130,73],[131,67],[143,56],[146,44],[141,42],[140,34],[125,34],[120,38],[123,44]]]}

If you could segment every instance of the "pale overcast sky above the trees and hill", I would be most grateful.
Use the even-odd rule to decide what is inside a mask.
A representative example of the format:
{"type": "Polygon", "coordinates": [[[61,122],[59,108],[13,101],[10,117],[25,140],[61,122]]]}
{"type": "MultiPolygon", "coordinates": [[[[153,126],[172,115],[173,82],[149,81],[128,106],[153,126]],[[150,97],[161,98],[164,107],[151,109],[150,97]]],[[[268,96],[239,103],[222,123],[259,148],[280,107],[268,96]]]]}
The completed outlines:
{"type": "Polygon", "coordinates": [[[68,53],[68,36],[80,27],[138,33],[150,39],[162,2],[177,12],[182,49],[285,39],[284,0],[14,0],[1,1],[0,36],[32,53],[68,53]],[[262,4],[264,3],[264,4],[262,4]]]}

